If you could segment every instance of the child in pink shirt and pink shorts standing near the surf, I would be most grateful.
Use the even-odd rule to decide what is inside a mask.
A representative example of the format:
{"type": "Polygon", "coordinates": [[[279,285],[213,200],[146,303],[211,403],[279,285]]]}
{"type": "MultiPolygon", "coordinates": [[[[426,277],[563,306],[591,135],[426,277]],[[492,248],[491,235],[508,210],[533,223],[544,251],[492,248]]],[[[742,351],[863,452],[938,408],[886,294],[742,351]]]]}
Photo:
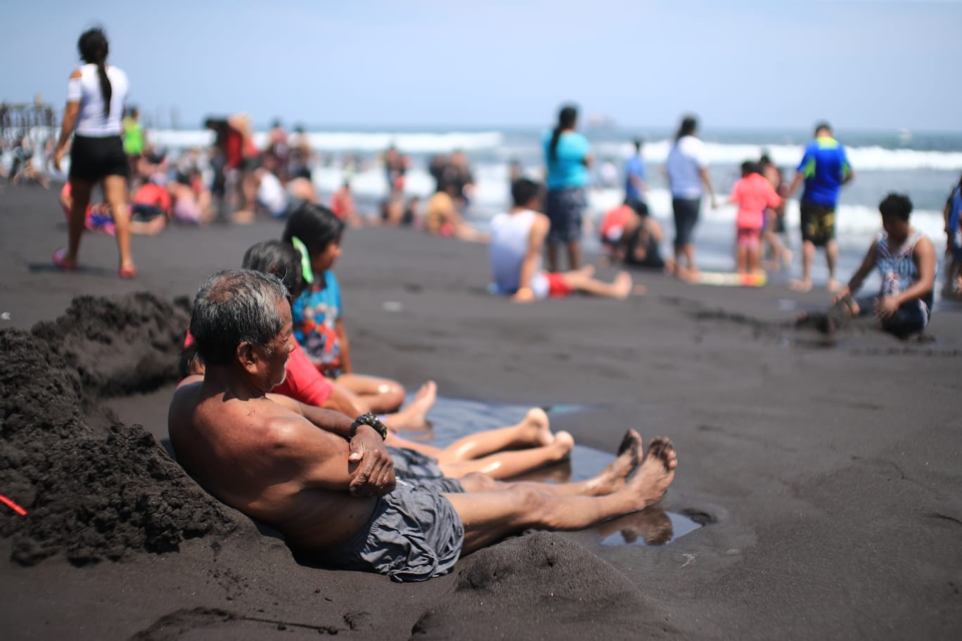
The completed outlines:
{"type": "Polygon", "coordinates": [[[731,189],[730,200],[738,205],[738,250],[735,257],[738,273],[755,274],[760,271],[762,260],[761,237],[765,210],[778,207],[781,197],[772,183],[762,176],[758,165],[746,160],[742,163],[742,178],[731,189]]]}

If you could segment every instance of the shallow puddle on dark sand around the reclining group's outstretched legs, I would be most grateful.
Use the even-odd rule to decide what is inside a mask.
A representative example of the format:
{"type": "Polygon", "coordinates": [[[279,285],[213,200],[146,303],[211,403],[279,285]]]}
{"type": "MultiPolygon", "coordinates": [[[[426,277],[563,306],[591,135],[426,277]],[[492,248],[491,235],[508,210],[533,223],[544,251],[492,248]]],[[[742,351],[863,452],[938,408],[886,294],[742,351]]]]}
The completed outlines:
{"type": "MultiPolygon", "coordinates": [[[[408,399],[411,400],[411,397],[408,399]]],[[[531,406],[493,405],[464,399],[438,397],[428,412],[432,429],[421,432],[423,440],[445,447],[462,436],[474,431],[494,430],[518,423],[531,406]]],[[[587,406],[543,407],[548,416],[583,411],[587,406]]],[[[418,438],[417,433],[406,432],[406,438],[418,438]]],[[[612,443],[612,452],[601,452],[583,445],[575,445],[569,460],[535,470],[515,479],[516,481],[577,482],[587,481],[615,459],[619,443],[612,443]]],[[[703,523],[676,512],[650,507],[641,512],[626,514],[607,521],[595,528],[600,545],[665,545],[700,528],[703,523]]]]}

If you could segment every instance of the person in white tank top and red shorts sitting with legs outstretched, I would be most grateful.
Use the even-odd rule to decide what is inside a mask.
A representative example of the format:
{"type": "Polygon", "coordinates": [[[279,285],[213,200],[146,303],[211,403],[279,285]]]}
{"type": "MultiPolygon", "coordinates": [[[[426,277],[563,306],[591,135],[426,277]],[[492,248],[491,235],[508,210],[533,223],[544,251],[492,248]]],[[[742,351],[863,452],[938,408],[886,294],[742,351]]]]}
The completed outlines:
{"type": "Polygon", "coordinates": [[[612,283],[603,283],[594,278],[591,265],[570,272],[543,271],[544,238],[551,223],[539,212],[542,187],[522,178],[511,186],[511,196],[515,207],[497,214],[491,222],[489,256],[497,293],[510,295],[517,303],[568,296],[573,291],[619,299],[631,294],[627,272],[620,272],[612,283]]]}

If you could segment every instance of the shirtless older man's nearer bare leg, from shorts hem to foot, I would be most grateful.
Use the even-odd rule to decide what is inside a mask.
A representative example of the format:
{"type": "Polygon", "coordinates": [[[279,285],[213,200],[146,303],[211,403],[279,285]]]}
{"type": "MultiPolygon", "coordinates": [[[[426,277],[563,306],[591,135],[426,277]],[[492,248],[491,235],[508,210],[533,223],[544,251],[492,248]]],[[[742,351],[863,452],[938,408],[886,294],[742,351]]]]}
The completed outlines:
{"type": "Polygon", "coordinates": [[[552,496],[524,484],[493,492],[444,496],[461,518],[465,528],[462,551],[470,554],[519,530],[580,530],[644,509],[664,496],[676,466],[671,441],[658,438],[651,442],[634,477],[606,496],[552,496]]]}

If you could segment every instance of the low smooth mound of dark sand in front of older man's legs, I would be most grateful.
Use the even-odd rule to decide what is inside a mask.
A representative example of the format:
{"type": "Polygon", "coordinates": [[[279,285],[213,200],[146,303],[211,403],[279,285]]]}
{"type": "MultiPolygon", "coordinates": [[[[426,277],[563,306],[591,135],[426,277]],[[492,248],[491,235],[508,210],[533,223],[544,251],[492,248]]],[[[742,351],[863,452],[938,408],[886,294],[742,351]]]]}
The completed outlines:
{"type": "Polygon", "coordinates": [[[533,631],[543,639],[634,639],[676,630],[608,563],[558,534],[533,532],[468,556],[454,589],[420,617],[412,638],[532,638],[533,631]]]}

